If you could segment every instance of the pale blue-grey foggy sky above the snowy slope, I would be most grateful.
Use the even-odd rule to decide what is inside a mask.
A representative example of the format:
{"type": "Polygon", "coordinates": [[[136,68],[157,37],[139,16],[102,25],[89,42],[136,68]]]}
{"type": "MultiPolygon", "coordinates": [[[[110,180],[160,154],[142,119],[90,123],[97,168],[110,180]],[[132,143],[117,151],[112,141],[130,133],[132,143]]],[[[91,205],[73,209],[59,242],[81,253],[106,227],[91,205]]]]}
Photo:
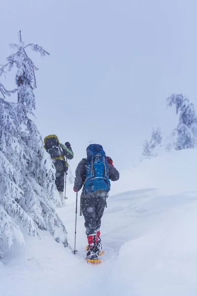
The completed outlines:
{"type": "MultiPolygon", "coordinates": [[[[0,7],[0,64],[19,30],[51,54],[28,50],[39,68],[35,122],[43,137],[71,143],[73,170],[91,140],[117,168],[129,168],[152,127],[165,134],[176,126],[167,96],[183,93],[197,106],[195,0],[1,0],[0,7]]],[[[15,87],[14,72],[0,79],[15,87]]]]}

